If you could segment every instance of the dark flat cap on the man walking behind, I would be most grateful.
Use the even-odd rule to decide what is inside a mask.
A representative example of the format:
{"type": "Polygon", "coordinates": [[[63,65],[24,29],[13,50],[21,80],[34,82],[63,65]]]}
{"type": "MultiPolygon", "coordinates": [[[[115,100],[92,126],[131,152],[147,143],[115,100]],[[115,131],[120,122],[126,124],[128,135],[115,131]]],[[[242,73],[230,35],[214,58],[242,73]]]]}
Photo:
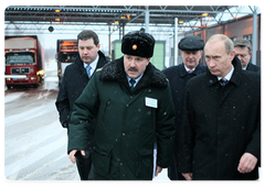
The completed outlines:
{"type": "Polygon", "coordinates": [[[179,42],[179,50],[181,51],[199,51],[203,50],[204,41],[195,35],[188,35],[179,42]]]}

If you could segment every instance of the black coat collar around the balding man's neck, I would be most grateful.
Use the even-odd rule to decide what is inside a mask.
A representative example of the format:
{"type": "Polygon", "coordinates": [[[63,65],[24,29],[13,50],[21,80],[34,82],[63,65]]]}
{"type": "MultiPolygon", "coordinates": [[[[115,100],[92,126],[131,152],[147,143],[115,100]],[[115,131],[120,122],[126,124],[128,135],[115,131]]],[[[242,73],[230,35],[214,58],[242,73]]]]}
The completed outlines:
{"type": "MultiPolygon", "coordinates": [[[[234,73],[230,79],[230,82],[233,82],[235,85],[240,85],[241,84],[241,76],[242,76],[242,65],[241,65],[241,61],[239,59],[237,56],[234,57],[234,59],[232,61],[232,64],[234,66],[234,73]]],[[[212,75],[209,70],[209,68],[206,68],[206,76],[210,78],[209,79],[209,86],[212,86],[214,84],[216,84],[218,77],[212,75]]]]}

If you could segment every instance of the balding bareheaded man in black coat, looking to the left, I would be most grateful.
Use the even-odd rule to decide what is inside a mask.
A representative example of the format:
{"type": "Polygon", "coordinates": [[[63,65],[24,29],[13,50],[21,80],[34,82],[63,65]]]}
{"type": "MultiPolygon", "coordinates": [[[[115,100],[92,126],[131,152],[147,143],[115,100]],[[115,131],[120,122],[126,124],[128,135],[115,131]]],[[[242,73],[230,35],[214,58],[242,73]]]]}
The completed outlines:
{"type": "Polygon", "coordinates": [[[242,70],[233,48],[227,36],[211,36],[206,74],[187,84],[178,136],[187,180],[258,180],[262,76],[242,70]]]}

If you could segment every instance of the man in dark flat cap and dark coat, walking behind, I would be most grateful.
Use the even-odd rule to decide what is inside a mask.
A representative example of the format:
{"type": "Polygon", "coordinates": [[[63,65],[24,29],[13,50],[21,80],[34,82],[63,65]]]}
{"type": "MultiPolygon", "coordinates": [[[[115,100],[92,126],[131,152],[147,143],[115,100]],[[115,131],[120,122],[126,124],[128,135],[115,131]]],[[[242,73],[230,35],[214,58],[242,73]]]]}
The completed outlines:
{"type": "MultiPolygon", "coordinates": [[[[176,134],[181,118],[182,98],[184,87],[192,77],[195,77],[206,70],[206,66],[201,65],[199,62],[203,54],[204,42],[199,36],[188,35],[179,42],[179,50],[183,63],[178,66],[169,67],[162,73],[167,76],[170,82],[171,95],[176,109],[176,134]]],[[[168,168],[168,177],[172,182],[184,182],[186,178],[177,169],[177,155],[178,155],[178,138],[176,136],[173,160],[168,168]]]]}

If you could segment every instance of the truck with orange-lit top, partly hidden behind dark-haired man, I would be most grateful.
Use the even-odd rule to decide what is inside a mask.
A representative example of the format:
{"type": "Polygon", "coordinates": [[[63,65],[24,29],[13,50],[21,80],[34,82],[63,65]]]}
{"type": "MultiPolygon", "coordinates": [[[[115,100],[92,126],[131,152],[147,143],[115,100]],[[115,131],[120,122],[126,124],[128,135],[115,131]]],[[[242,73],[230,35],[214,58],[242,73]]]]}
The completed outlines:
{"type": "Polygon", "coordinates": [[[67,65],[75,61],[78,55],[77,40],[57,40],[57,76],[59,85],[63,79],[64,69],[67,65]]]}

